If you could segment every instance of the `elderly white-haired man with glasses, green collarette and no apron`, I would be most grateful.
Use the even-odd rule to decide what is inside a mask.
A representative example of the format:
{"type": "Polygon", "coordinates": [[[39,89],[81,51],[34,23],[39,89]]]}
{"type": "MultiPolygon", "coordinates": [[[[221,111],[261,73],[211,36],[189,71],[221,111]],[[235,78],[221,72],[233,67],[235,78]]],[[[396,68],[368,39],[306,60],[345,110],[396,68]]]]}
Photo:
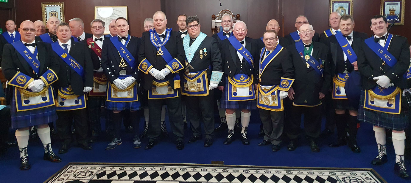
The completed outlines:
{"type": "Polygon", "coordinates": [[[312,151],[319,152],[317,138],[321,131],[321,99],[330,87],[329,69],[330,51],[326,45],[312,41],[314,36],[312,25],[300,27],[301,42],[289,46],[293,66],[294,84],[289,89],[291,121],[286,124],[286,134],[290,139],[287,149],[296,149],[300,137],[301,114],[304,113],[304,128],[312,151]]]}

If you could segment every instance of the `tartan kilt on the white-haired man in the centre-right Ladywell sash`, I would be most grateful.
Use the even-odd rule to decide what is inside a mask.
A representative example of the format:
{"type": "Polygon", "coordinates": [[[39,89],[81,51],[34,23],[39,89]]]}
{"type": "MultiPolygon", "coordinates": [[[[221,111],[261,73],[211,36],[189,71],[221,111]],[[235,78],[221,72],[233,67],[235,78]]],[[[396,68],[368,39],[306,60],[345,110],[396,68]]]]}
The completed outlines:
{"type": "Polygon", "coordinates": [[[221,95],[220,108],[239,108],[239,109],[257,109],[256,100],[244,100],[244,101],[229,101],[226,91],[229,90],[228,79],[226,79],[226,85],[224,86],[224,91],[221,95]]]}

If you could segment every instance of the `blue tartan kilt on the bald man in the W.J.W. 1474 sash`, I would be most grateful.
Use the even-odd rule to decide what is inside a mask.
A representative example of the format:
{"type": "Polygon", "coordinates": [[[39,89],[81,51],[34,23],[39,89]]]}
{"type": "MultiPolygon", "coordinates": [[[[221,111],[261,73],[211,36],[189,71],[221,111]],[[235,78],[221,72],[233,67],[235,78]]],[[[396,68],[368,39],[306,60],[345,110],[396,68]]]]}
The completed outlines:
{"type": "Polygon", "coordinates": [[[55,106],[17,112],[16,99],[14,98],[14,95],[12,102],[10,102],[10,106],[12,112],[12,129],[31,127],[39,124],[47,124],[57,120],[55,106]]]}

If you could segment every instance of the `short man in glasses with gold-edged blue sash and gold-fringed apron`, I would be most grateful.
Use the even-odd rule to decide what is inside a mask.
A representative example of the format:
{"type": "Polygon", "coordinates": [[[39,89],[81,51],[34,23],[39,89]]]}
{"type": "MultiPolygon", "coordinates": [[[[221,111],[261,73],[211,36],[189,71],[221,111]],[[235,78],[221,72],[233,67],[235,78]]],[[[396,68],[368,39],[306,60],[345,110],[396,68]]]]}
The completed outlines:
{"type": "Polygon", "coordinates": [[[277,32],[267,30],[263,34],[266,45],[260,51],[259,64],[254,75],[258,78],[257,108],[263,123],[264,138],[259,146],[271,145],[272,151],[279,151],[284,129],[283,99],[293,84],[293,63],[289,52],[277,43],[277,32]]]}

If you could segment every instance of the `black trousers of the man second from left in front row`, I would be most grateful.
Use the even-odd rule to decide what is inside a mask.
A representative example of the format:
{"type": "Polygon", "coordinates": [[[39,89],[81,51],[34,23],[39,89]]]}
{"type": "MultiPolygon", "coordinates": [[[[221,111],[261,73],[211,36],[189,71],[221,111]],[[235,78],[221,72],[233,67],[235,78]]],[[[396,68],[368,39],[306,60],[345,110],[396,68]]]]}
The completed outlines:
{"type": "Polygon", "coordinates": [[[87,140],[88,116],[86,108],[73,111],[57,111],[57,115],[56,126],[62,145],[69,145],[72,142],[71,132],[73,120],[77,142],[83,143],[87,140]]]}

